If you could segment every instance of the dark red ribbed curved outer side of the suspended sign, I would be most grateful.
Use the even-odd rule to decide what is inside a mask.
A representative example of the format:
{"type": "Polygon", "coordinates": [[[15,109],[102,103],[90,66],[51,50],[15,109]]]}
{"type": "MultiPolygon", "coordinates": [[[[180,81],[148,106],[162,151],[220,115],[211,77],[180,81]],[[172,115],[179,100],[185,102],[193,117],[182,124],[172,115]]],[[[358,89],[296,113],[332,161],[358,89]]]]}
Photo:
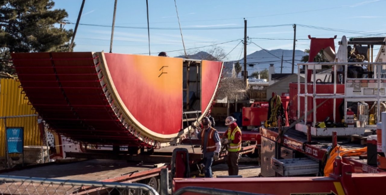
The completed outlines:
{"type": "Polygon", "coordinates": [[[12,58],[22,93],[53,131],[74,142],[150,147],[123,124],[95,54],[13,53],[12,58]]]}

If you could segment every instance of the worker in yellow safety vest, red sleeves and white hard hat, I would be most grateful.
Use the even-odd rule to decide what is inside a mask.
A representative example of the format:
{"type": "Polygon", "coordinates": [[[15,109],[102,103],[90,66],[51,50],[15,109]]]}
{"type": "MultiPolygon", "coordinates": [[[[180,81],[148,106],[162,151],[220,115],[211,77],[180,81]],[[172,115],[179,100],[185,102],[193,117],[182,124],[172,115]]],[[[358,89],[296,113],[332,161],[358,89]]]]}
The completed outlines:
{"type": "Polygon", "coordinates": [[[241,130],[237,126],[236,119],[227,117],[225,125],[228,130],[224,133],[222,143],[228,144],[228,175],[239,175],[239,153],[241,150],[241,130]]]}

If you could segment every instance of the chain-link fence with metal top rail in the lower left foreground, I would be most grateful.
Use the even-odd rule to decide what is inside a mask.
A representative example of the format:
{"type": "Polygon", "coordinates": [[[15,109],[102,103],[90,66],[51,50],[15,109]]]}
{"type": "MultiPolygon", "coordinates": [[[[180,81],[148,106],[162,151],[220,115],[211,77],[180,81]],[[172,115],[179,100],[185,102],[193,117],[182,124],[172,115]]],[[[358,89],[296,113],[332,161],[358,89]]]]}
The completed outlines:
{"type": "Polygon", "coordinates": [[[2,195],[158,195],[141,183],[58,180],[0,175],[2,195]]]}

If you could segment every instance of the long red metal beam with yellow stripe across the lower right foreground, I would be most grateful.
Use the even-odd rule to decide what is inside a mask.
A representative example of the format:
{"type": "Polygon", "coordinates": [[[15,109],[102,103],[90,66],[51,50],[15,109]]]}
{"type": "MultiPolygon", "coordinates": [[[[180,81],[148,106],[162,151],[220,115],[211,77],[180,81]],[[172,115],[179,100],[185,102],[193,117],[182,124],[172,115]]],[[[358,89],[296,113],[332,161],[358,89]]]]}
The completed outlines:
{"type": "Polygon", "coordinates": [[[352,173],[350,164],[341,160],[336,162],[334,173],[329,177],[175,178],[172,190],[176,192],[180,188],[194,186],[277,195],[383,194],[386,173],[352,173]]]}

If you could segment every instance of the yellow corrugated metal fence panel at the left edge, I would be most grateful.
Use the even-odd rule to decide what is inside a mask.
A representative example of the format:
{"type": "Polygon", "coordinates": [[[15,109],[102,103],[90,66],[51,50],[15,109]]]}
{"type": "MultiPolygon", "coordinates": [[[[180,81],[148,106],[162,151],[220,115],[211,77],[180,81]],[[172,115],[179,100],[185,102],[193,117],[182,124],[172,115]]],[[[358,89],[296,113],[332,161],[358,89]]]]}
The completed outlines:
{"type": "MultiPolygon", "coordinates": [[[[20,82],[13,79],[0,81],[0,117],[33,115],[32,105],[24,99],[19,88],[20,82]]],[[[24,146],[41,146],[40,131],[37,125],[37,116],[8,118],[7,127],[24,127],[24,146]]],[[[4,119],[0,122],[0,156],[5,156],[5,125],[4,119]]]]}

